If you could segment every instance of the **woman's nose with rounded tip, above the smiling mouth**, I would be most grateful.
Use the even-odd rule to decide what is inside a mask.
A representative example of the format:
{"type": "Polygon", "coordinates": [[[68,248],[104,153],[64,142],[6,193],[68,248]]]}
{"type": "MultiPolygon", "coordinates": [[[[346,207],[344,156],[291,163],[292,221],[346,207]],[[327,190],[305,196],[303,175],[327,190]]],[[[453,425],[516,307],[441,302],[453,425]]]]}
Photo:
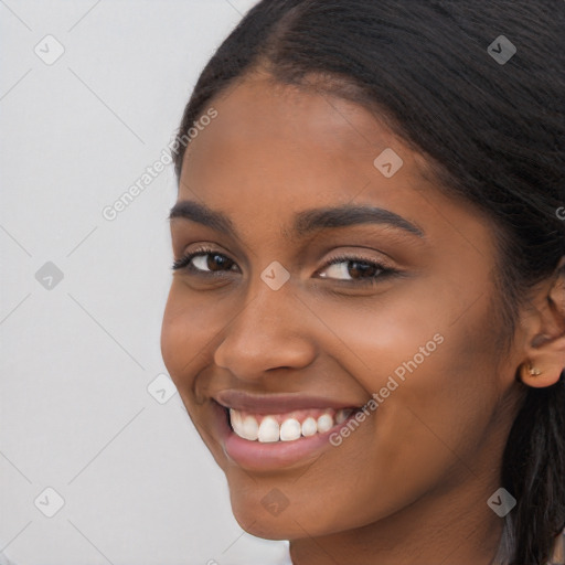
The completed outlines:
{"type": "Polygon", "coordinates": [[[263,280],[227,324],[214,352],[216,365],[254,382],[273,369],[301,369],[316,356],[308,327],[312,313],[286,284],[273,290],[263,280]]]}

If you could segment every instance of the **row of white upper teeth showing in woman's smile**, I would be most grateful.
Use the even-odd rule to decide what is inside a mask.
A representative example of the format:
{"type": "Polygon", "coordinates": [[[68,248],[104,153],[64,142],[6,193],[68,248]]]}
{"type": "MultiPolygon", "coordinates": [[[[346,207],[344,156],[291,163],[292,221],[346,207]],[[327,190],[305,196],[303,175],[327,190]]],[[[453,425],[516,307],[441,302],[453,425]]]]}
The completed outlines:
{"type": "Polygon", "coordinates": [[[235,408],[230,408],[230,422],[236,435],[250,441],[291,441],[301,436],[309,437],[324,433],[335,424],[341,424],[352,413],[352,408],[327,408],[320,411],[297,411],[287,415],[255,416],[235,408]],[[310,413],[310,414],[309,414],[310,413]],[[259,420],[260,419],[260,424],[259,420]]]}

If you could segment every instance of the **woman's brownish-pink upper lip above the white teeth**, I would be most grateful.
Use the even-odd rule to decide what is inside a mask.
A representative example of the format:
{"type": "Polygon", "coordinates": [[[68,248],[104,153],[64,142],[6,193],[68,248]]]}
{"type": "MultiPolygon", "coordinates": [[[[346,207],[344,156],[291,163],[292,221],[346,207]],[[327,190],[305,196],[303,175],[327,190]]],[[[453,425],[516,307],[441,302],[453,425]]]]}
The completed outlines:
{"type": "Polygon", "coordinates": [[[358,408],[359,405],[343,401],[308,396],[306,394],[249,394],[244,391],[228,388],[213,396],[214,401],[225,408],[253,412],[256,414],[277,414],[306,408],[358,408]]]}

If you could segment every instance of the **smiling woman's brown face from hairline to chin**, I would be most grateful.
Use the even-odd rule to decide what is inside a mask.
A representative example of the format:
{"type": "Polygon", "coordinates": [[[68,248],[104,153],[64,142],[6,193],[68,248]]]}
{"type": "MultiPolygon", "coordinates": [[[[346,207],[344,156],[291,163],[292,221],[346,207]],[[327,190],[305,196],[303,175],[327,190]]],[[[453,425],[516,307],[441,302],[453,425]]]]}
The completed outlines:
{"type": "Polygon", "coordinates": [[[488,221],[354,104],[256,75],[212,106],[171,214],[174,258],[207,252],[174,271],[161,345],[242,527],[494,516],[520,360],[488,221]],[[267,441],[225,406],[248,437],[271,416],[267,441]]]}

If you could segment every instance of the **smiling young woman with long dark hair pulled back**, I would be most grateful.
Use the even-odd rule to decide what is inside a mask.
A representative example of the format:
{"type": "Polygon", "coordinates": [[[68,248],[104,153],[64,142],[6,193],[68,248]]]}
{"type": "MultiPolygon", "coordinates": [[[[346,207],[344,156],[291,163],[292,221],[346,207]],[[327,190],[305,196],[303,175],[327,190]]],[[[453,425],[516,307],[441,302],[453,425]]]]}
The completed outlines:
{"type": "Polygon", "coordinates": [[[202,72],[162,353],[294,565],[565,562],[564,28],[264,0],[202,72]]]}

